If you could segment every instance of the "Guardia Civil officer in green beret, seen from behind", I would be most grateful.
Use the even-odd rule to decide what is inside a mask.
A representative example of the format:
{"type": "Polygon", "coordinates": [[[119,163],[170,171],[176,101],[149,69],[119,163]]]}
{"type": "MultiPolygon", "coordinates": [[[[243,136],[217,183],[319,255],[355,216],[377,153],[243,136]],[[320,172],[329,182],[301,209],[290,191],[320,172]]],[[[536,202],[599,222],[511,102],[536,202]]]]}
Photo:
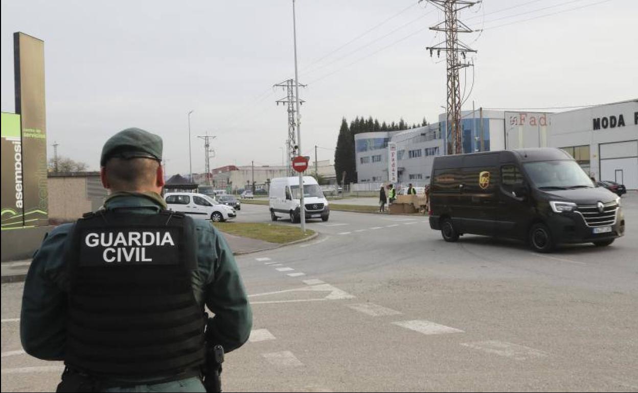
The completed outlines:
{"type": "Polygon", "coordinates": [[[27,354],[64,361],[58,391],[204,392],[206,348],[248,339],[232,252],[209,222],[167,211],[161,156],[142,129],[108,139],[103,209],[56,227],[34,255],[20,338],[27,354]]]}

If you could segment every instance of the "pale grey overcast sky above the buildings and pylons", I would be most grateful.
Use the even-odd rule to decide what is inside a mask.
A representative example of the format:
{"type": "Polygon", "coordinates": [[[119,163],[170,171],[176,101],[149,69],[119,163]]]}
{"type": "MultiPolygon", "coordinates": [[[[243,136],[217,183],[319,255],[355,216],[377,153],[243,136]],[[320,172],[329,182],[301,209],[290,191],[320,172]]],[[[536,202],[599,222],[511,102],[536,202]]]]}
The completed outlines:
{"type": "MultiPolygon", "coordinates": [[[[212,168],[281,164],[287,115],[274,101],[285,92],[272,85],[294,77],[290,0],[3,0],[1,11],[2,110],[15,110],[12,33],[43,39],[47,143],[59,154],[98,169],[105,140],[140,127],[164,138],[170,174],[188,173],[194,110],[193,172],[204,169],[195,136],[206,131],[217,136],[212,168]]],[[[479,50],[463,109],[637,97],[636,15],[635,0],[484,0],[463,11],[485,27],[462,34],[479,50]]],[[[436,121],[445,61],[425,48],[440,41],[427,26],[441,18],[417,0],[297,0],[303,153],[318,145],[332,159],[341,117],[436,121]]]]}

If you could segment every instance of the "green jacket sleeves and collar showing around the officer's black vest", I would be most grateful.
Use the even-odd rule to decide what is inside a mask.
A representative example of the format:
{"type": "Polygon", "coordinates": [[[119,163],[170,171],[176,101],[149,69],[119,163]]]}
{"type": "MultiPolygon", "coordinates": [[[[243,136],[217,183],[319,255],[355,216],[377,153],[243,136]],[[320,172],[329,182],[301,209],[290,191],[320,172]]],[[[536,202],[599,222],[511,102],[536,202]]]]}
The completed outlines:
{"type": "MultiPolygon", "coordinates": [[[[119,192],[109,197],[105,209],[130,214],[153,214],[166,208],[155,193],[119,192]]],[[[214,343],[230,352],[248,340],[253,314],[232,251],[223,236],[207,220],[195,220],[199,250],[193,292],[198,303],[209,308],[214,343]]],[[[64,248],[73,224],[59,225],[45,236],[24,284],[20,339],[27,354],[49,361],[64,360],[66,341],[66,292],[64,248]]]]}

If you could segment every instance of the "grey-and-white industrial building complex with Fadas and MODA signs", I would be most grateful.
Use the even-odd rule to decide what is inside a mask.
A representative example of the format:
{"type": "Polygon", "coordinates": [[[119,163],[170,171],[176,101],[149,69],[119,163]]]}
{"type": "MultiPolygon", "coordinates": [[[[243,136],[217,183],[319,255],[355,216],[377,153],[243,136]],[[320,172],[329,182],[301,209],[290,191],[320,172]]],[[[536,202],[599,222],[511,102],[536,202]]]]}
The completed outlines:
{"type": "MultiPolygon", "coordinates": [[[[638,99],[550,112],[463,111],[463,152],[556,147],[569,152],[596,180],[638,189],[638,99]]],[[[439,122],[415,129],[355,135],[357,179],[376,189],[429,183],[436,155],[447,154],[449,132],[439,122]],[[394,173],[393,173],[394,171],[394,173]]]]}

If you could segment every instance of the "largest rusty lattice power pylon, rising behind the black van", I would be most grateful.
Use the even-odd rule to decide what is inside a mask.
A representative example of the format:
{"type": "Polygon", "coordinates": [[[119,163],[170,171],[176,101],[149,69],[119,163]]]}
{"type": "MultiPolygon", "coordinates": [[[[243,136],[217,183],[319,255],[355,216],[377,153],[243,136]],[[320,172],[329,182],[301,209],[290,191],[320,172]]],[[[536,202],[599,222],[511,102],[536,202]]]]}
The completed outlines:
{"type": "MultiPolygon", "coordinates": [[[[473,32],[470,27],[461,22],[458,18],[458,12],[464,8],[480,3],[480,1],[466,0],[419,0],[427,1],[434,4],[437,8],[445,13],[445,20],[430,27],[434,31],[445,32],[445,40],[436,44],[436,46],[428,46],[426,50],[430,51],[430,56],[436,50],[436,55],[440,56],[441,51],[446,52],[447,58],[447,118],[452,125],[452,149],[448,145],[448,154],[461,154],[463,146],[461,137],[463,127],[461,127],[461,83],[459,81],[459,69],[471,66],[470,63],[464,62],[468,52],[477,52],[459,41],[459,32],[473,32]],[[459,55],[463,57],[463,62],[459,59],[459,55]]],[[[446,131],[447,132],[447,131],[446,131]]]]}

